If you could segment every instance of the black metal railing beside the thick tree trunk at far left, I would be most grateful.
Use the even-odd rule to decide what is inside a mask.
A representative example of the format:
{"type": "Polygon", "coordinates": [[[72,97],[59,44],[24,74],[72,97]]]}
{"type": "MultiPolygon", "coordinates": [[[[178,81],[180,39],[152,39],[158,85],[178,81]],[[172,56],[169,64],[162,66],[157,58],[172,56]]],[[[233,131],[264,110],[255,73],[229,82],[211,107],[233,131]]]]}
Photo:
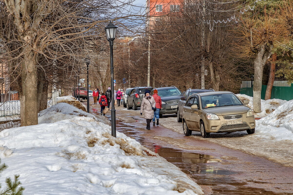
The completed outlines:
{"type": "Polygon", "coordinates": [[[20,101],[0,102],[0,116],[20,115],[20,101]]]}

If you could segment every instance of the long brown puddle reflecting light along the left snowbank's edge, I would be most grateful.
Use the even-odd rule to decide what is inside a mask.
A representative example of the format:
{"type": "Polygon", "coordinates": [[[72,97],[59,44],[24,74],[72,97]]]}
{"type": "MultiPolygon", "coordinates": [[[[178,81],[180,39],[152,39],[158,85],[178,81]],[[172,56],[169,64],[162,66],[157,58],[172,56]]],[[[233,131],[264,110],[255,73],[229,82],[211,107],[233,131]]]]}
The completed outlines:
{"type": "Polygon", "coordinates": [[[207,193],[208,195],[290,195],[246,186],[247,183],[245,181],[236,180],[231,177],[231,175],[238,174],[238,172],[217,168],[217,163],[222,162],[222,160],[215,158],[214,156],[166,148],[152,143],[149,139],[146,139],[143,136],[144,133],[146,133],[144,119],[139,117],[134,117],[134,119],[142,122],[129,124],[117,120],[117,131],[126,134],[151,151],[158,153],[168,162],[180,168],[181,171],[189,175],[191,178],[194,178],[197,184],[206,186],[207,189],[211,189],[212,192],[207,193]]]}

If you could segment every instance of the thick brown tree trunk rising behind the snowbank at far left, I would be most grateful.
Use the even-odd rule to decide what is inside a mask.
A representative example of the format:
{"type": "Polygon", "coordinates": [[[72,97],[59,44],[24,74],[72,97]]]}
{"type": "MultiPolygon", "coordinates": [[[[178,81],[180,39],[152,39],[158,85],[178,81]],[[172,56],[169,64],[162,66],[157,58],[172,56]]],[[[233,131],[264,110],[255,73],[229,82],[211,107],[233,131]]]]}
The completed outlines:
{"type": "Polygon", "coordinates": [[[37,59],[33,51],[24,54],[22,63],[21,126],[38,124],[37,59]],[[23,109],[24,108],[24,109],[23,109]]]}

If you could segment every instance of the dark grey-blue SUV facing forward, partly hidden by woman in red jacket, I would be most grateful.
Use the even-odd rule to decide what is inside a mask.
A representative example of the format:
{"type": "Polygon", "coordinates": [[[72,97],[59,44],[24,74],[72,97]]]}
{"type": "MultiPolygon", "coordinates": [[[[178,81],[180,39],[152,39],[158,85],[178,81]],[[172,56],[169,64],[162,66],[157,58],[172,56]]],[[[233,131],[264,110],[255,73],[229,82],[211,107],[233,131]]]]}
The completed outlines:
{"type": "MultiPolygon", "coordinates": [[[[182,97],[182,92],[175,86],[154,88],[158,90],[158,95],[161,96],[162,109],[160,110],[160,118],[163,114],[177,113],[177,107],[182,97]]],[[[151,91],[151,95],[154,94],[154,89],[151,91]]]]}

